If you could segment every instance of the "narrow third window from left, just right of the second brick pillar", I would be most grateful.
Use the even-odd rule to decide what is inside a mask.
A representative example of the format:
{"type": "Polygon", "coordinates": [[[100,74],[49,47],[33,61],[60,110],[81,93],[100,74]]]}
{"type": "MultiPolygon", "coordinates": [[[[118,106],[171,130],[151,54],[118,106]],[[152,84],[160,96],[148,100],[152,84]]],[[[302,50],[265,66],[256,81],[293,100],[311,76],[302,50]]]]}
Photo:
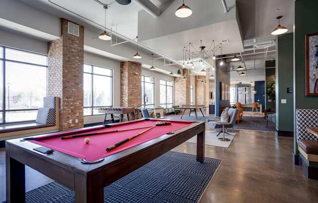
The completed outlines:
{"type": "Polygon", "coordinates": [[[141,76],[141,98],[143,107],[155,107],[155,81],[141,76]]]}

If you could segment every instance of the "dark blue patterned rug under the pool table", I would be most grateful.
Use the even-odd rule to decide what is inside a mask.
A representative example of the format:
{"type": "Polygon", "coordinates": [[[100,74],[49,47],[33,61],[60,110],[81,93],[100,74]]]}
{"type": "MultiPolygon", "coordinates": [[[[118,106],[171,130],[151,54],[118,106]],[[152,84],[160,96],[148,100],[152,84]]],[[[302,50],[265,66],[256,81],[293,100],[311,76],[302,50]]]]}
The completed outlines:
{"type": "MultiPolygon", "coordinates": [[[[104,188],[106,203],[197,203],[221,160],[169,151],[104,188]]],[[[74,203],[74,191],[49,183],[26,193],[26,203],[74,203]]],[[[5,203],[5,202],[3,202],[5,203]]]]}

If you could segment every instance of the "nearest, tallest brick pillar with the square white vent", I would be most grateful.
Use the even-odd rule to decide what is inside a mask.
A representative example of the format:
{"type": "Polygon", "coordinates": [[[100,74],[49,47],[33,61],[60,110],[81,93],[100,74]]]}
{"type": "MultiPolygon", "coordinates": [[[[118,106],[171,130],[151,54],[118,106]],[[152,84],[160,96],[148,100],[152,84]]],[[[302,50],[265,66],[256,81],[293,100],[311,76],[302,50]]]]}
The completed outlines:
{"type": "Polygon", "coordinates": [[[61,38],[48,42],[48,96],[60,97],[60,130],[83,127],[84,27],[68,34],[61,19],[61,38]]]}

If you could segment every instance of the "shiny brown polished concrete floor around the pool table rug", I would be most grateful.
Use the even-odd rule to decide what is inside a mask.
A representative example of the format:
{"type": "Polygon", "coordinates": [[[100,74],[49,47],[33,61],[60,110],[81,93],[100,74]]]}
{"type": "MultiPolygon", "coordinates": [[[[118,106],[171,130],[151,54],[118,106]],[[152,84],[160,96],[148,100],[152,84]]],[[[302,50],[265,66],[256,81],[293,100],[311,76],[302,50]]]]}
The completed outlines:
{"type": "MultiPolygon", "coordinates": [[[[272,132],[236,132],[229,148],[205,147],[206,157],[223,161],[201,203],[318,202],[318,181],[308,180],[292,162],[291,138],[272,132]]],[[[196,154],[196,144],[185,142],[174,151],[196,154]]],[[[27,191],[51,181],[26,167],[27,191]]],[[[0,202],[4,200],[5,151],[0,149],[0,202]]]]}

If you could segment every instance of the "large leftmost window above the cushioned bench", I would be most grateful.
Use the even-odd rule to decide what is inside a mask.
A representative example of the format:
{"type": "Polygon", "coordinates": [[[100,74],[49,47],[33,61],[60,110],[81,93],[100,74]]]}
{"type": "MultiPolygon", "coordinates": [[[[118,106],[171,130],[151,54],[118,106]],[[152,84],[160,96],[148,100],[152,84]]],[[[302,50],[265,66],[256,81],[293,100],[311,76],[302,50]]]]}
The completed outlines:
{"type": "Polygon", "coordinates": [[[47,87],[47,56],[0,46],[0,123],[34,121],[47,87]]]}

